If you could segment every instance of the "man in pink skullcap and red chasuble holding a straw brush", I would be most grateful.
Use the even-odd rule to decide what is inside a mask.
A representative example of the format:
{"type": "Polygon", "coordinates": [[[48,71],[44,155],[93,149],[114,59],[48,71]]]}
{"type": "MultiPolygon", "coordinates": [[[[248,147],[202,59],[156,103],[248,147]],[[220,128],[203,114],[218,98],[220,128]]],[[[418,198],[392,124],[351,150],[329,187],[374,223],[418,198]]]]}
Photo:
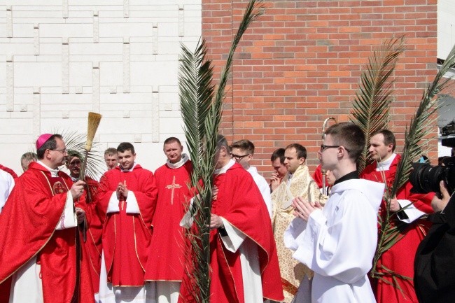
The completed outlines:
{"type": "Polygon", "coordinates": [[[94,302],[80,245],[83,181],[59,171],[66,146],[59,134],[36,141],[38,162],[16,179],[0,215],[0,302],[94,302]],[[2,301],[4,300],[4,301],[2,301]]]}

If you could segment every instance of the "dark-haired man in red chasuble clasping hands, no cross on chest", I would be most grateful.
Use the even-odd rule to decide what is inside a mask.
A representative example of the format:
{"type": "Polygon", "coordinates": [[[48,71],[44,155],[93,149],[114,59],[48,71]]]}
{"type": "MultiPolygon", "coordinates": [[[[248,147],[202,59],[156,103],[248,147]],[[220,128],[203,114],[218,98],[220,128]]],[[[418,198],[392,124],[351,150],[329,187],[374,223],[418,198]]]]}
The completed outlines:
{"type": "Polygon", "coordinates": [[[120,165],[102,176],[97,195],[105,217],[99,301],[153,302],[146,297],[144,272],[158,193],[155,176],[135,162],[131,143],[120,143],[117,155],[120,165]]]}

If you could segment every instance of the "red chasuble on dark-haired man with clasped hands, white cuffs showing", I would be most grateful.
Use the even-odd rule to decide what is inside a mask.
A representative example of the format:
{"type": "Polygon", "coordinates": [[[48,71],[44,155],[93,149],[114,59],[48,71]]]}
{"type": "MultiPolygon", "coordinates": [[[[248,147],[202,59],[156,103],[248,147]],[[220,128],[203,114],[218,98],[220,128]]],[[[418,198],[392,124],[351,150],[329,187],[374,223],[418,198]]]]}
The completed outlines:
{"type": "MultiPolygon", "coordinates": [[[[144,286],[144,272],[152,237],[157,188],[151,171],[136,164],[132,171],[119,167],[106,171],[99,183],[97,207],[105,216],[103,252],[108,281],[113,286],[144,286]],[[140,213],[126,213],[127,202],[119,201],[120,212],[106,213],[118,183],[134,192],[140,213]]],[[[124,199],[122,199],[124,200],[124,199]]]]}

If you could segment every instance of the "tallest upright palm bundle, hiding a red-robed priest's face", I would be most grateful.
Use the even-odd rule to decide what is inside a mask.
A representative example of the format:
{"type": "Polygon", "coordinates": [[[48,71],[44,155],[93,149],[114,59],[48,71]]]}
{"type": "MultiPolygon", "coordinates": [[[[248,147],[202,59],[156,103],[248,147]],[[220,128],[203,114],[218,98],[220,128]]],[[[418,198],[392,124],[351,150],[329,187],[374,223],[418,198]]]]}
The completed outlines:
{"type": "Polygon", "coordinates": [[[262,15],[262,1],[249,1],[237,34],[235,35],[228,59],[215,90],[213,66],[207,59],[204,39],[197,44],[194,52],[182,45],[179,69],[179,97],[183,117],[188,153],[193,161],[190,188],[198,193],[190,206],[193,226],[186,230],[188,254],[186,255],[186,278],[183,287],[190,297],[186,302],[210,302],[210,247],[209,224],[211,216],[211,191],[216,153],[216,135],[221,123],[225,87],[230,77],[235,50],[241,36],[251,22],[262,15]]]}

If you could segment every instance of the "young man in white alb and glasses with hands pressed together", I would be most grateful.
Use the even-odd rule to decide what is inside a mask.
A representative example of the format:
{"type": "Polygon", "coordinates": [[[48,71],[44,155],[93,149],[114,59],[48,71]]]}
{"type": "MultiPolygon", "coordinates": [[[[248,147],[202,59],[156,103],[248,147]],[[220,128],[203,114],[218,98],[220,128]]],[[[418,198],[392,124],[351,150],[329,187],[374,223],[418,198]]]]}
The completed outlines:
{"type": "Polygon", "coordinates": [[[297,302],[376,302],[367,273],[377,245],[377,211],[384,184],[358,178],[356,161],[365,146],[360,128],[342,122],[325,131],[319,158],[335,184],[324,208],[297,197],[297,217],[284,240],[293,258],[314,271],[301,283],[297,302]]]}

